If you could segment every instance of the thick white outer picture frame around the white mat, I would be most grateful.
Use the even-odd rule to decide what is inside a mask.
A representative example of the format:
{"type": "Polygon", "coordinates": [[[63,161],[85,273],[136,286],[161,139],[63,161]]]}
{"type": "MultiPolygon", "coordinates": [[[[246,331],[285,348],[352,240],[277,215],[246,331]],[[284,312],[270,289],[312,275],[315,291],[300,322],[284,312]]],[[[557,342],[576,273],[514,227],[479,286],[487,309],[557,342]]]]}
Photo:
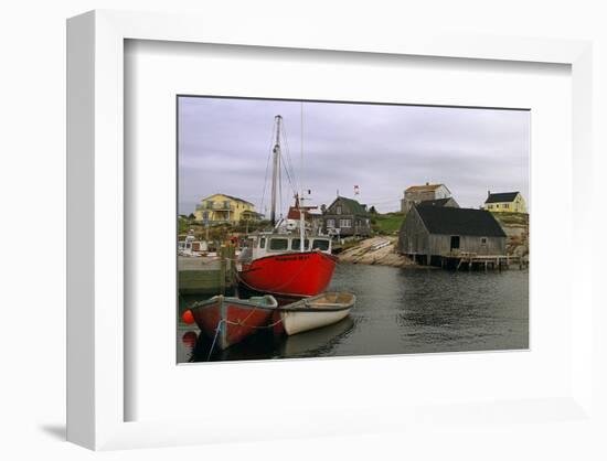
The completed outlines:
{"type": "MultiPolygon", "coordinates": [[[[464,36],[403,37],[387,44],[362,39],[327,35],[268,36],[255,29],[235,32],[191,15],[94,11],[68,21],[68,310],[67,310],[67,439],[90,449],[117,449],[193,444],[220,440],[256,440],[260,431],[201,437],[190,422],[125,422],[124,388],[124,47],[125,40],[238,44],[277,49],[331,50],[512,62],[561,63],[572,66],[573,79],[573,182],[574,236],[589,227],[589,208],[584,206],[592,183],[592,78],[593,50],[588,42],[518,37],[464,36]]],[[[581,251],[589,243],[581,239],[581,251]]],[[[513,420],[521,415],[533,420],[543,410],[556,420],[574,421],[576,430],[599,428],[600,414],[593,399],[596,373],[593,357],[592,281],[572,282],[578,293],[572,322],[572,393],[558,401],[488,403],[475,407],[491,411],[494,405],[513,420]],[[578,308],[578,309],[577,309],[578,308]],[[493,405],[493,406],[492,406],[493,405]],[[582,422],[581,422],[582,421],[582,422]],[[579,429],[579,425],[584,429],[579,429]]],[[[596,399],[595,390],[594,398],[596,399]]],[[[600,393],[600,390],[599,390],[600,393]]],[[[603,390],[603,395],[605,390],[603,390]]],[[[454,410],[424,410],[428,416],[457,426],[454,410]]],[[[352,409],[344,419],[364,416],[352,409]]],[[[462,417],[462,419],[466,419],[462,417]]],[[[473,419],[473,418],[472,418],[473,419]]],[[[415,418],[413,418],[415,420],[415,418]]],[[[409,420],[411,421],[411,420],[409,420]]],[[[549,418],[547,421],[551,421],[549,418]]],[[[366,432],[364,424],[348,433],[366,432]]],[[[397,424],[379,425],[377,430],[398,431],[397,424]]],[[[407,429],[408,430],[408,429],[407,429]]],[[[419,429],[422,432],[429,428],[419,429]]],[[[523,430],[523,429],[521,429],[523,430]]],[[[313,431],[310,433],[315,433],[313,431]]],[[[280,435],[279,435],[280,436],[280,435]]],[[[288,437],[288,435],[281,435],[288,437]]],[[[426,435],[427,437],[427,435],[426,435]]]]}

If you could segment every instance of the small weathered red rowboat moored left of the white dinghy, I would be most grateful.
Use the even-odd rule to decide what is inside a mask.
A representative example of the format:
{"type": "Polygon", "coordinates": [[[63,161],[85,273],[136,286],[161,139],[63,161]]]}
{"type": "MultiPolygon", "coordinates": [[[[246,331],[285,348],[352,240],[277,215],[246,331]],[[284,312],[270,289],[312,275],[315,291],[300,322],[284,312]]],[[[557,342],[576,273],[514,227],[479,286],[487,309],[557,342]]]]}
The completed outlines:
{"type": "Polygon", "coordinates": [[[220,294],[194,303],[190,311],[199,329],[213,339],[213,346],[224,350],[267,325],[277,305],[269,294],[248,300],[220,294]]]}

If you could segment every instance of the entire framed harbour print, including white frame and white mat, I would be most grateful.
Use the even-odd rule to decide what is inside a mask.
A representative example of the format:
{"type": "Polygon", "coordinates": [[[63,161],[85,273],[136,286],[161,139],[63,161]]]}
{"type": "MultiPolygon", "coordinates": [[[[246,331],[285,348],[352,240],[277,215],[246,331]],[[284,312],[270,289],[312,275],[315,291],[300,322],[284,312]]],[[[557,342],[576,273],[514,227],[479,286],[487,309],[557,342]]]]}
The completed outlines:
{"type": "Polygon", "coordinates": [[[68,440],[596,428],[587,44],[220,23],[68,22],[68,440]]]}

